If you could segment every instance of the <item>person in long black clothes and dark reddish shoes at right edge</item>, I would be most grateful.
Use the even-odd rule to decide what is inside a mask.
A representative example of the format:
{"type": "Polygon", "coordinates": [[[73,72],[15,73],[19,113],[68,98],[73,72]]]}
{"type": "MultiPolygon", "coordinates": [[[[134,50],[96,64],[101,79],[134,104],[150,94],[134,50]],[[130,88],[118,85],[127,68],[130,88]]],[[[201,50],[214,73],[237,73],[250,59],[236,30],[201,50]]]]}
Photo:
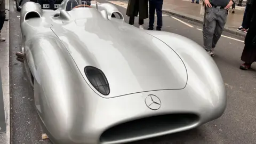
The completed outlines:
{"type": "Polygon", "coordinates": [[[256,61],[256,2],[251,3],[251,7],[247,13],[247,18],[244,22],[250,25],[248,33],[244,41],[244,50],[241,55],[241,60],[244,63],[240,66],[240,69],[247,70],[251,68],[253,62],[256,61]]]}

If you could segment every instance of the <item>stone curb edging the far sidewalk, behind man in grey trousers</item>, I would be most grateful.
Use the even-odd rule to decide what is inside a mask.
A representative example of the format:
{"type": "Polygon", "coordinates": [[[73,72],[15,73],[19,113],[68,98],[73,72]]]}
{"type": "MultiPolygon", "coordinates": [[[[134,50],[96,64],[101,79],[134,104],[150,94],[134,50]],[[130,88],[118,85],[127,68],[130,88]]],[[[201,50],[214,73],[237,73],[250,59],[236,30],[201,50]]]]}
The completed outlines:
{"type": "MultiPolygon", "coordinates": [[[[175,15],[177,17],[184,18],[184,19],[187,19],[187,20],[190,20],[190,21],[194,21],[194,22],[197,22],[197,23],[200,23],[201,25],[203,25],[203,20],[198,19],[197,17],[194,17],[193,15],[183,14],[181,12],[177,12],[177,11],[173,11],[173,10],[162,10],[162,11],[165,12],[165,13],[169,13],[169,14],[175,15]]],[[[242,36],[244,38],[246,36],[245,33],[241,33],[240,31],[233,30],[233,29],[230,29],[228,27],[225,27],[224,31],[226,31],[227,33],[230,33],[230,34],[235,34],[235,35],[238,35],[238,36],[242,36]]]]}

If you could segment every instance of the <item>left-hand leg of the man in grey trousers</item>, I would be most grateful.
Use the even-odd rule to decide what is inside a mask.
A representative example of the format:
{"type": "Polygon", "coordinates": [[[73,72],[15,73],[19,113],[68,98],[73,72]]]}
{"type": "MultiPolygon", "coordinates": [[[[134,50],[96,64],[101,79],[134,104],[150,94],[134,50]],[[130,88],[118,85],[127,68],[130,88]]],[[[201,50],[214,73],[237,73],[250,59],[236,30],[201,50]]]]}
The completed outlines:
{"type": "Polygon", "coordinates": [[[216,26],[214,7],[208,7],[205,10],[204,25],[203,25],[203,39],[204,49],[207,52],[212,50],[213,34],[216,26]]]}

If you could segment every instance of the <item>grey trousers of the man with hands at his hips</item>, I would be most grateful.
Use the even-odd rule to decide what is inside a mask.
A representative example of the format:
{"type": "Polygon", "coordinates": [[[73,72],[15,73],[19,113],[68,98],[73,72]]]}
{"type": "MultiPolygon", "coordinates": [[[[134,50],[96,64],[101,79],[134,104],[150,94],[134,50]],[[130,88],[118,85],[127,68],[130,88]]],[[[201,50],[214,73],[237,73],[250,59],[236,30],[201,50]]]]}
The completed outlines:
{"type": "Polygon", "coordinates": [[[204,49],[211,51],[220,39],[227,22],[228,11],[216,7],[206,7],[204,14],[203,36],[204,49]]]}

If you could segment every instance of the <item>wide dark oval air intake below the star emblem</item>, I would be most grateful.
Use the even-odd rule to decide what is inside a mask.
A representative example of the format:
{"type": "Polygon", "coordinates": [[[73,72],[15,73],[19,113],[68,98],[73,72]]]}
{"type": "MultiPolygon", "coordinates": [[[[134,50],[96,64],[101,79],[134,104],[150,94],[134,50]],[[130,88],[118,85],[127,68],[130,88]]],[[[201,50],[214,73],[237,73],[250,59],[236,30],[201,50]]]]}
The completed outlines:
{"type": "MultiPolygon", "coordinates": [[[[197,124],[199,117],[195,114],[168,114],[135,119],[130,122],[110,127],[100,136],[101,143],[123,143],[129,140],[144,139],[151,135],[169,134],[197,124]]],[[[151,137],[150,136],[150,137],[151,137]]],[[[133,141],[132,140],[132,141],[133,141]]]]}

